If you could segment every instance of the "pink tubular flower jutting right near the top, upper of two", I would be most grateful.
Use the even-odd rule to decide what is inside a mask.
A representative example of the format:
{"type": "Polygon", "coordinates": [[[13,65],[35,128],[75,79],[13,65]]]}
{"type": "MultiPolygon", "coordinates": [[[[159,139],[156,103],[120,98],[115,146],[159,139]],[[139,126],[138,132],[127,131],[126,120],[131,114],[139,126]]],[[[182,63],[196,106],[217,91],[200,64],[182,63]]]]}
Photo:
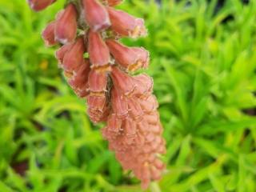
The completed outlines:
{"type": "Polygon", "coordinates": [[[146,36],[147,32],[142,18],[134,18],[122,10],[114,10],[111,7],[108,7],[108,12],[112,23],[111,29],[118,35],[130,38],[146,36]]]}

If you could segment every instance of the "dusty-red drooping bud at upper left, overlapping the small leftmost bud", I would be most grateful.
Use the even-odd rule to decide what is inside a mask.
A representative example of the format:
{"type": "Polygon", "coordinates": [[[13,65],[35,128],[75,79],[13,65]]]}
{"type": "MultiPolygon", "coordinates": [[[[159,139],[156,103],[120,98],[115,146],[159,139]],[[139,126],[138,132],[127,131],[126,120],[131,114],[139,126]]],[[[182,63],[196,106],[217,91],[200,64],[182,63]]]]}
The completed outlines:
{"type": "Polygon", "coordinates": [[[59,14],[55,25],[55,39],[62,44],[74,42],[77,34],[77,10],[70,3],[62,14],[59,14]]]}

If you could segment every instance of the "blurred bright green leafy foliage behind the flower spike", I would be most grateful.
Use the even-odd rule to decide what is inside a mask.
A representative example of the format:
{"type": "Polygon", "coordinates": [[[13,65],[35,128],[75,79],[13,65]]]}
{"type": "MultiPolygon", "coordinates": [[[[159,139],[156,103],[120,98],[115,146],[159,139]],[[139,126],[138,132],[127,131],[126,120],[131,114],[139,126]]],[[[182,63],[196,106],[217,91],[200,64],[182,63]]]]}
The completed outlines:
{"type": "MultiPolygon", "coordinates": [[[[0,0],[0,191],[139,192],[86,116],[40,37],[64,0],[34,13],[0,0]]],[[[167,169],[151,192],[256,191],[256,1],[142,1],[147,73],[160,103],[167,169]]]]}

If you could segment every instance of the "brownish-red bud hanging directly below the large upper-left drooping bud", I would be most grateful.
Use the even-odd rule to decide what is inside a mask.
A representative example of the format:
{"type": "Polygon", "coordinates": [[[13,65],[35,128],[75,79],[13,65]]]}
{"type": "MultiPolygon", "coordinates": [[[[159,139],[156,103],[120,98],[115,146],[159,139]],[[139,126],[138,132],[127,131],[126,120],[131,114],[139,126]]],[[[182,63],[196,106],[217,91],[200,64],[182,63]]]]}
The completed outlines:
{"type": "Polygon", "coordinates": [[[70,50],[66,51],[61,67],[69,73],[74,73],[84,62],[84,51],[84,40],[83,38],[78,38],[70,50]]]}

